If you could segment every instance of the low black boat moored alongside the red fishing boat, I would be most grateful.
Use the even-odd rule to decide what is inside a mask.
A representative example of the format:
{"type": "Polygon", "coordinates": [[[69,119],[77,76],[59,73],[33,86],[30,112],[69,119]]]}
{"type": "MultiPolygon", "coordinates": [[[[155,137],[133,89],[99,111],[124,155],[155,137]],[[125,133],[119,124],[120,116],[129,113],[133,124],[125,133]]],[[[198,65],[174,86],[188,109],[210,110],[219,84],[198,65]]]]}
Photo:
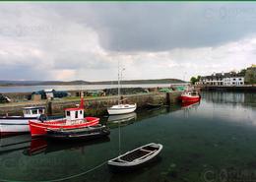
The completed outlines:
{"type": "Polygon", "coordinates": [[[100,137],[105,137],[110,134],[110,131],[105,125],[96,125],[78,129],[47,129],[46,137],[54,140],[91,140],[100,137]]]}

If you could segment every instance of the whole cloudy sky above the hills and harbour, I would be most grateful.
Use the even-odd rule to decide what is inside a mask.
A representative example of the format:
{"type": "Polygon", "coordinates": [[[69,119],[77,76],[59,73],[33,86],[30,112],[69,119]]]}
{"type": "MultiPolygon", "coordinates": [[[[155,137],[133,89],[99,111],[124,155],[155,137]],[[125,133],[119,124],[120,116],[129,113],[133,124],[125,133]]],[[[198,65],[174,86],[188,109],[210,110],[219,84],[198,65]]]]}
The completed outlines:
{"type": "Polygon", "coordinates": [[[0,80],[123,80],[239,71],[256,63],[255,3],[0,4],[0,80]]]}

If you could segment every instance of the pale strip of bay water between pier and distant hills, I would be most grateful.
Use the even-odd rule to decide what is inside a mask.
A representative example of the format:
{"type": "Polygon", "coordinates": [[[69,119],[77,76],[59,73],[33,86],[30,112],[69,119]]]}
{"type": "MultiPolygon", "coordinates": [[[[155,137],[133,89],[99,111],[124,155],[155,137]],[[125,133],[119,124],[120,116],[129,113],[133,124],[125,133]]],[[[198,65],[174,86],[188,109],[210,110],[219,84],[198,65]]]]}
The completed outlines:
{"type": "MultiPolygon", "coordinates": [[[[122,85],[122,88],[157,88],[170,87],[179,84],[141,84],[141,85],[122,85]]],[[[184,84],[183,84],[184,85],[184,84]]],[[[76,86],[17,86],[0,87],[0,92],[32,92],[53,89],[56,91],[82,91],[82,90],[103,90],[118,88],[118,85],[76,85],[76,86]]]]}

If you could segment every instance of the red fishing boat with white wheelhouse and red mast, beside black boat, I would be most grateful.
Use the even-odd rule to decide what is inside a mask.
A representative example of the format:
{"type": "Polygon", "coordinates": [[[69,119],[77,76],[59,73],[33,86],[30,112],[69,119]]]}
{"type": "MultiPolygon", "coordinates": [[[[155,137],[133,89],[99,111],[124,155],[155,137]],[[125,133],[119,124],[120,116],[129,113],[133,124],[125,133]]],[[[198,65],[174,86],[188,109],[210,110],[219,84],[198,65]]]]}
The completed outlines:
{"type": "Polygon", "coordinates": [[[84,117],[84,99],[81,97],[79,107],[65,109],[65,118],[48,121],[30,120],[32,137],[46,135],[47,130],[79,129],[95,126],[99,122],[96,117],[84,117]]]}

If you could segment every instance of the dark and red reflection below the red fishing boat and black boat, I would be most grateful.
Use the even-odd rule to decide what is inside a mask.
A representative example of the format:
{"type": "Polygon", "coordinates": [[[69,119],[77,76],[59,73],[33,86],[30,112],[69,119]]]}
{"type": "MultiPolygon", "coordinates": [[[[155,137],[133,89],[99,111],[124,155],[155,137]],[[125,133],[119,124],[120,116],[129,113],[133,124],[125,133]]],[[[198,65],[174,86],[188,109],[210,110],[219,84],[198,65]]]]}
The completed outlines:
{"type": "Polygon", "coordinates": [[[86,146],[93,146],[96,144],[109,142],[108,137],[92,140],[92,141],[78,141],[78,142],[65,142],[59,143],[57,141],[47,140],[46,138],[32,139],[30,147],[23,153],[25,155],[35,155],[39,153],[59,152],[65,150],[83,151],[86,146]]]}

